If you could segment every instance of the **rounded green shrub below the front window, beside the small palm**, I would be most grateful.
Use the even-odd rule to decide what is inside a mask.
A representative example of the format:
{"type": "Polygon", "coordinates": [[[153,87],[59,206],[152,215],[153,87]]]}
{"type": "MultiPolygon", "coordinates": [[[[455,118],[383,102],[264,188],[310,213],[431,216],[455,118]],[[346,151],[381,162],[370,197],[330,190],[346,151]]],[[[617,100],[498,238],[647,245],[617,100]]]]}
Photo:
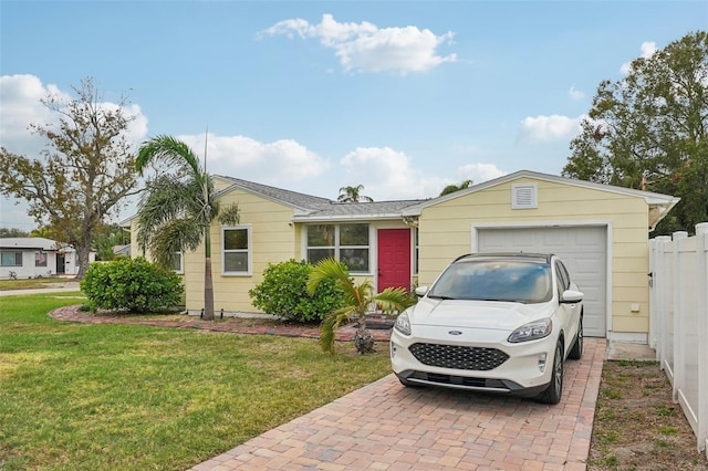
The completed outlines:
{"type": "Polygon", "coordinates": [[[313,266],[304,260],[269,263],[263,272],[263,281],[248,292],[253,306],[289,321],[322,321],[326,314],[344,304],[343,295],[335,287],[334,280],[326,280],[310,296],[306,283],[312,270],[313,266]]]}

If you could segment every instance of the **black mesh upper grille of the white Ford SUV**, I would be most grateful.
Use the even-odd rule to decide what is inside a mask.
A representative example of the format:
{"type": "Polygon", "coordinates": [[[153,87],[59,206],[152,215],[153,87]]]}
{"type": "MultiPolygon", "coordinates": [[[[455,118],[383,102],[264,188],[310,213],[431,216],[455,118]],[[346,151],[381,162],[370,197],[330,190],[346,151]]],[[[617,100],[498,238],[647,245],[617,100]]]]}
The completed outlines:
{"type": "Polygon", "coordinates": [[[509,359],[497,348],[417,343],[408,349],[424,365],[452,369],[487,371],[509,359]]]}

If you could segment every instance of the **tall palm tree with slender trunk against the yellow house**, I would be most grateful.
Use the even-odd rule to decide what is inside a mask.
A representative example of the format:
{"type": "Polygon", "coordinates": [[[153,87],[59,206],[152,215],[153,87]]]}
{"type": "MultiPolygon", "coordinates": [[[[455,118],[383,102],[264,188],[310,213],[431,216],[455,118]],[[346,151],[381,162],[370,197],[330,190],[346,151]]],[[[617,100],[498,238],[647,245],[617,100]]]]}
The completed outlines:
{"type": "Polygon", "coordinates": [[[143,143],[135,160],[143,175],[146,166],[163,161],[173,174],[163,172],[148,182],[138,207],[138,243],[149,251],[155,263],[173,266],[176,253],[196,250],[204,241],[204,318],[214,320],[211,279],[211,222],[239,222],[237,205],[220,208],[215,198],[214,180],[199,158],[183,142],[157,136],[143,143]]]}

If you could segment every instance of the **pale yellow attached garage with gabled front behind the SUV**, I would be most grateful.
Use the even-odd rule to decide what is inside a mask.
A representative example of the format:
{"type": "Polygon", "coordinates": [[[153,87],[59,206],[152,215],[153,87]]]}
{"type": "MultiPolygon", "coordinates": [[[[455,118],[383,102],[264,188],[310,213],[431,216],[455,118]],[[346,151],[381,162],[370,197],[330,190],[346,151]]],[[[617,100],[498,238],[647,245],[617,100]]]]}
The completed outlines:
{"type": "Polygon", "coordinates": [[[646,343],[649,232],[677,202],[522,170],[403,216],[417,221],[418,285],[462,253],[556,253],[585,293],[585,335],[646,343]]]}

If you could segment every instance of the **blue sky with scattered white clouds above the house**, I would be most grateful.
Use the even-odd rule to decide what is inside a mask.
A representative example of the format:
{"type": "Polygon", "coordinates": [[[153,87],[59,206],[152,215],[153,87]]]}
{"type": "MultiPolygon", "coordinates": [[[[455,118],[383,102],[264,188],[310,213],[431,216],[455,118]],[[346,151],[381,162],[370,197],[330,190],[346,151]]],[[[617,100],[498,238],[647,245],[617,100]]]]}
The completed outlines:
{"type": "MultiPolygon", "coordinates": [[[[92,76],[214,174],[336,199],[559,175],[602,80],[706,29],[705,1],[0,1],[0,145],[92,76]]],[[[0,227],[31,230],[1,201],[0,227]]],[[[134,203],[114,220],[131,216],[134,203]]]]}

